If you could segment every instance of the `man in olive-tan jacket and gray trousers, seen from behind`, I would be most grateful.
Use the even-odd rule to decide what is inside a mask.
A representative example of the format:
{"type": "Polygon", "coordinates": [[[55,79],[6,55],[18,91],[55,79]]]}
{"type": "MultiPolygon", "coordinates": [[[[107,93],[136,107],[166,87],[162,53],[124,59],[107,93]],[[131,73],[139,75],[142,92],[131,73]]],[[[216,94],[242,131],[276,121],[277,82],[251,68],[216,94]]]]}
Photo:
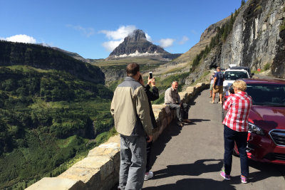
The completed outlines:
{"type": "Polygon", "coordinates": [[[118,189],[142,189],[145,177],[145,134],[152,141],[152,122],[147,95],[138,78],[140,66],[130,63],[127,77],[115,89],[111,104],[115,129],[120,134],[120,178],[118,189]]]}

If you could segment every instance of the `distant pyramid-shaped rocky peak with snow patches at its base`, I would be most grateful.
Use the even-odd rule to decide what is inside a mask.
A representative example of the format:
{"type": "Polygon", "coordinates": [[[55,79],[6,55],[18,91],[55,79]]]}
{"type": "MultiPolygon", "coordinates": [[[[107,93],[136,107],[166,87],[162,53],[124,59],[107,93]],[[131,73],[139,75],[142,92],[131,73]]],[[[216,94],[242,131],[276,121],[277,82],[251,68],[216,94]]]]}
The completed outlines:
{"type": "Polygon", "coordinates": [[[115,48],[110,53],[108,59],[112,58],[124,58],[128,56],[159,56],[168,55],[160,46],[155,46],[150,41],[147,41],[145,33],[142,30],[135,30],[130,33],[129,36],[125,37],[123,43],[115,48]]]}

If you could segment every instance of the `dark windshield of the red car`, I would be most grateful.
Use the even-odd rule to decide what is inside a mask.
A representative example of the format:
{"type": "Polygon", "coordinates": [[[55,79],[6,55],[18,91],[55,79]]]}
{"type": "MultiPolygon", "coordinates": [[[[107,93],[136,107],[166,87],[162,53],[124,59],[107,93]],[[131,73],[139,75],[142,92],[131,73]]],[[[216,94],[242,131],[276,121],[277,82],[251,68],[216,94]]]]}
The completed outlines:
{"type": "Polygon", "coordinates": [[[253,105],[285,106],[285,85],[248,84],[247,93],[252,96],[253,105]]]}

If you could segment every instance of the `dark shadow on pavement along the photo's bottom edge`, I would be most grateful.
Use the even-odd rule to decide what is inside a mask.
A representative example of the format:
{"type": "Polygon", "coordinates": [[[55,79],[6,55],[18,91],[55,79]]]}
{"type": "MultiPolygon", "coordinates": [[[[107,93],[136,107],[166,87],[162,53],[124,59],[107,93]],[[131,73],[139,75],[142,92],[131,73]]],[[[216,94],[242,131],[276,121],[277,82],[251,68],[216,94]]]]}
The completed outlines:
{"type": "Polygon", "coordinates": [[[234,186],[228,184],[227,181],[214,181],[213,179],[182,179],[175,184],[166,184],[162,186],[150,186],[144,189],[235,189],[234,186]]]}

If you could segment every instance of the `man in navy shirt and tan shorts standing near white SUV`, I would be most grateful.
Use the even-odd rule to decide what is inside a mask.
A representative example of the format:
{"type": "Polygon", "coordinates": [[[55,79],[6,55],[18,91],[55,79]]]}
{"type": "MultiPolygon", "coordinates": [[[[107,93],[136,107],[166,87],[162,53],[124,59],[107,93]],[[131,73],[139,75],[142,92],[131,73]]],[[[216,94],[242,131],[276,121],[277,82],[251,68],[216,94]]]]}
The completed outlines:
{"type": "Polygon", "coordinates": [[[222,104],[224,74],[221,72],[221,68],[217,67],[217,73],[214,74],[213,95],[211,103],[214,103],[216,93],[219,93],[219,104],[222,104]]]}

